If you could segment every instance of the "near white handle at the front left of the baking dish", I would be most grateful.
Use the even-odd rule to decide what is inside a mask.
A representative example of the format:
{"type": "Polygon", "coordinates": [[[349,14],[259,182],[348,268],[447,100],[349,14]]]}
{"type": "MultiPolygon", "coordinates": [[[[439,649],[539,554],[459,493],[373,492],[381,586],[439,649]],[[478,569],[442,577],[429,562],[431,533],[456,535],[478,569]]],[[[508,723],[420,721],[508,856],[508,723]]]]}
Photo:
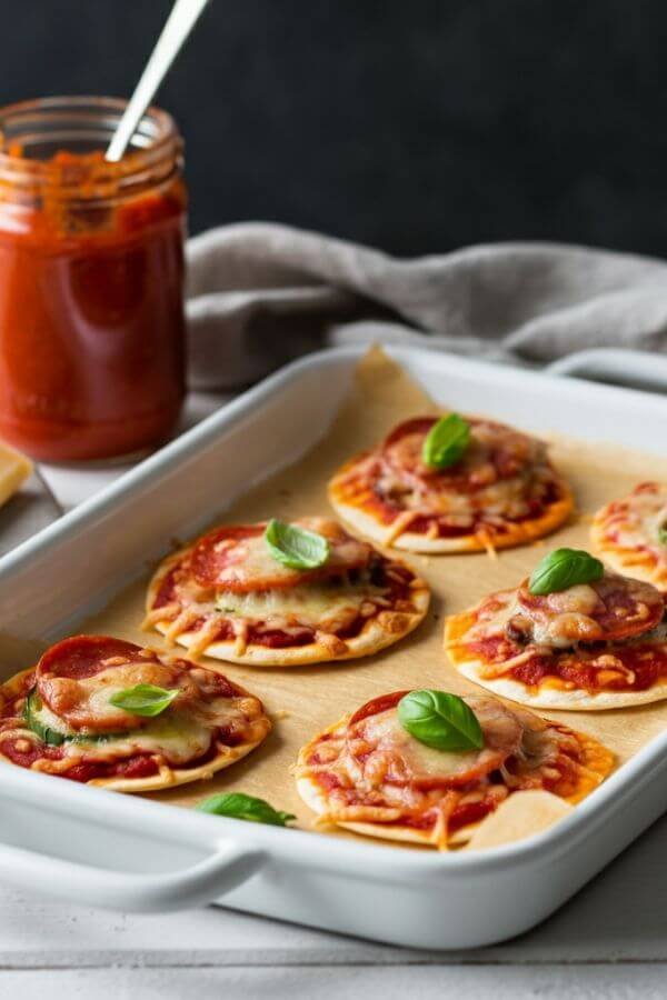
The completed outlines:
{"type": "Polygon", "coordinates": [[[212,854],[188,868],[139,874],[2,844],[0,874],[19,888],[69,902],[150,913],[210,903],[255,874],[263,860],[261,851],[221,841],[212,854]]]}

